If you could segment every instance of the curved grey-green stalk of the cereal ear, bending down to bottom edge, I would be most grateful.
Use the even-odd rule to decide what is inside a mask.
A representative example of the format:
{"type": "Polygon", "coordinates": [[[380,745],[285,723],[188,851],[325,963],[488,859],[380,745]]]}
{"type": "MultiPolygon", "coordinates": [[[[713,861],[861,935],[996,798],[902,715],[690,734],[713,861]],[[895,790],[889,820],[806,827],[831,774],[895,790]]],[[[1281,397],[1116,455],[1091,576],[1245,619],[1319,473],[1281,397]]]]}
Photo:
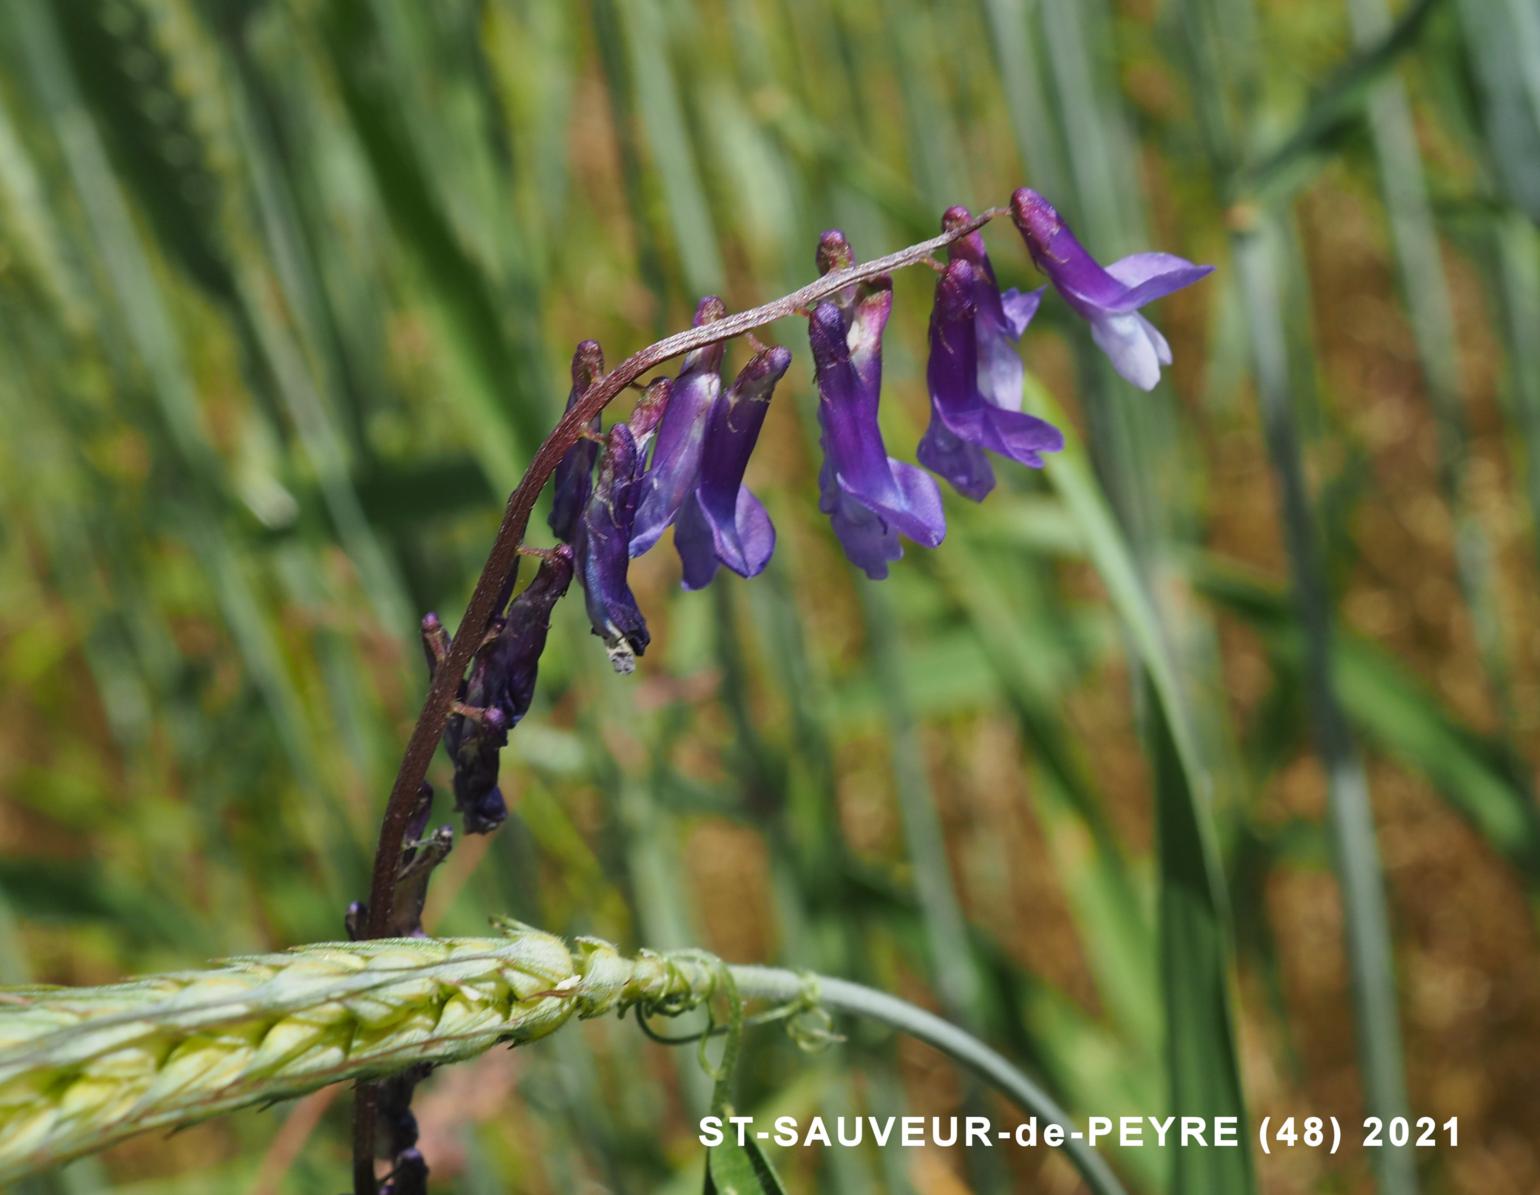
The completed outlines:
{"type": "Polygon", "coordinates": [[[942,1021],[932,1012],[926,1012],[898,996],[879,992],[873,987],[853,984],[849,979],[832,979],[822,975],[798,975],[781,967],[728,967],[738,984],[738,992],[744,999],[762,999],[773,1004],[795,1003],[808,992],[812,986],[818,993],[818,1004],[830,1012],[844,1012],[853,1016],[865,1016],[881,1021],[886,1026],[909,1033],[912,1038],[933,1046],[956,1063],[961,1063],[984,1083],[1006,1095],[1016,1107],[1040,1120],[1064,1127],[1064,1152],[1069,1155],[1081,1178],[1093,1195],[1124,1195],[1123,1184],[1118,1183],[1112,1169],[1101,1155],[1092,1150],[1084,1141],[1069,1136],[1078,1132],[1075,1123],[1047,1092],[1023,1075],[1016,1067],[996,1053],[978,1038],[958,1029],[950,1021],[942,1021]]]}

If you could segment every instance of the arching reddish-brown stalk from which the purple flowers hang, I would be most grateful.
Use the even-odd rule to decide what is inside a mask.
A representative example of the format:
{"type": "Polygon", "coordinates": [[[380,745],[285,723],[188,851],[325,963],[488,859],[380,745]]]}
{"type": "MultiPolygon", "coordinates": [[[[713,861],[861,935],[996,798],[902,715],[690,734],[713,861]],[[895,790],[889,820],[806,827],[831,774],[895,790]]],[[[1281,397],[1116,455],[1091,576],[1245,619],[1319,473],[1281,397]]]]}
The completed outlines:
{"type": "MultiPolygon", "coordinates": [[[[1006,208],[989,208],[967,223],[949,228],[939,236],[922,240],[918,245],[890,253],[872,262],[858,262],[845,269],[824,274],[816,282],[810,282],[792,294],[782,296],[750,311],[739,311],[725,316],[713,323],[699,328],[688,328],[673,336],[667,336],[622,360],[604,377],[584,391],[582,399],[573,403],[551,433],[536,450],[530,467],[524,471],[517,487],[508,494],[508,504],[502,511],[502,522],[493,539],[487,564],[482,565],[476,588],[465,607],[450,651],[444,662],[434,670],[424,698],[422,711],[407,739],[407,750],[402,755],[400,768],[391,785],[390,799],[385,804],[385,816],[380,819],[379,842],[374,847],[374,864],[370,875],[368,916],[362,927],[362,938],[385,938],[391,933],[393,912],[396,904],[396,882],[400,873],[400,852],[407,839],[407,825],[417,799],[417,788],[428,775],[428,764],[433,751],[444,738],[444,727],[450,719],[450,707],[459,690],[460,679],[470,667],[476,647],[497,614],[499,599],[507,594],[519,562],[519,547],[524,542],[525,528],[530,524],[530,513],[534,502],[545,488],[545,482],[556,471],[556,465],[567,454],[567,450],[578,442],[588,422],[604,411],[631,382],[642,374],[656,370],[659,365],[673,360],[704,345],[719,340],[730,340],[755,328],[762,328],[778,319],[795,316],[799,311],[816,305],[832,294],[852,283],[887,274],[904,266],[924,262],[930,254],[946,248],[953,240],[975,233],[996,216],[1004,216],[1006,208]]],[[[367,1149],[367,1143],[374,1138],[374,1107],[370,1100],[359,1100],[354,1107],[354,1149],[367,1149]]],[[[368,1160],[368,1180],[365,1175],[365,1160],[354,1157],[354,1192],[356,1195],[376,1195],[373,1180],[373,1158],[368,1160]]]]}

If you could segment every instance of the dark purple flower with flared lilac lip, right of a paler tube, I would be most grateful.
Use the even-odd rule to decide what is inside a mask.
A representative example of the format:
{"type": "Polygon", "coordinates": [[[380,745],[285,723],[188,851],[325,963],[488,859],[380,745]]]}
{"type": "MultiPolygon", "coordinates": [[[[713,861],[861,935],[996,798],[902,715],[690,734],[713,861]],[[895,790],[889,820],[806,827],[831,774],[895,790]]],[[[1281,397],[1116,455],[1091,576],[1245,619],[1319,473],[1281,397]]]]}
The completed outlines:
{"type": "Polygon", "coordinates": [[[770,410],[770,394],[790,365],[785,348],[756,353],[711,407],[699,480],[681,504],[675,527],[687,590],[708,585],[718,564],[744,577],[758,576],[770,564],[775,525],[744,485],[744,471],[770,410]]]}

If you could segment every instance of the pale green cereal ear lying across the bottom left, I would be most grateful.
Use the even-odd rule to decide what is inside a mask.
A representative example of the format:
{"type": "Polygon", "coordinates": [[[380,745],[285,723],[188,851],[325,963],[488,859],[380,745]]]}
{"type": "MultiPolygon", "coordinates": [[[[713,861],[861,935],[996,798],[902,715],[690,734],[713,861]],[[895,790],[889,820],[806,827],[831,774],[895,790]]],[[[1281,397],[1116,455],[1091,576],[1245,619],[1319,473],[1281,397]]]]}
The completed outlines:
{"type": "Polygon", "coordinates": [[[306,946],[94,989],[0,989],[0,1181],[330,1083],[542,1038],[573,1015],[710,996],[699,955],[502,938],[306,946]]]}

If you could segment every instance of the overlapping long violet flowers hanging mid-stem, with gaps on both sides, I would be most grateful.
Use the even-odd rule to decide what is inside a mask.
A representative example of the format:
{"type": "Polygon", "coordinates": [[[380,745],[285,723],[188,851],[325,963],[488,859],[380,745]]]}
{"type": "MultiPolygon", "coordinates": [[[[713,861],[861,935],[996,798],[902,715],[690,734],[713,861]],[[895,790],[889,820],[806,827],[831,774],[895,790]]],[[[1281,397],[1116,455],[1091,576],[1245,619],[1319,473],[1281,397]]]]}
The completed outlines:
{"type": "MultiPolygon", "coordinates": [[[[825,273],[850,262],[841,234],[824,234],[818,262],[825,273]]],[[[893,282],[879,276],[819,303],[808,322],[824,447],[819,510],[830,516],[845,556],[873,581],[904,554],[901,534],[927,548],[946,536],[935,480],[890,457],[876,422],[882,328],[892,306],[893,282]]]]}

